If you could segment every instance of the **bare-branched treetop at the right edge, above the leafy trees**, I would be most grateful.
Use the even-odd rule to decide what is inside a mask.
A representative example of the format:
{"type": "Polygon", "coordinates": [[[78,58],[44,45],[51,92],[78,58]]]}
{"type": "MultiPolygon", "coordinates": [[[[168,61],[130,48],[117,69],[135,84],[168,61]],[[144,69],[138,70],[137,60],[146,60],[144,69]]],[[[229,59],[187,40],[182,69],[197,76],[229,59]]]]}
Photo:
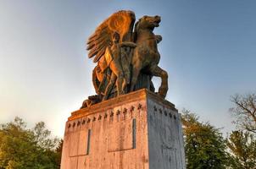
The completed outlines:
{"type": "Polygon", "coordinates": [[[237,126],[256,134],[256,94],[232,95],[231,101],[235,106],[230,111],[237,117],[237,126]]]}

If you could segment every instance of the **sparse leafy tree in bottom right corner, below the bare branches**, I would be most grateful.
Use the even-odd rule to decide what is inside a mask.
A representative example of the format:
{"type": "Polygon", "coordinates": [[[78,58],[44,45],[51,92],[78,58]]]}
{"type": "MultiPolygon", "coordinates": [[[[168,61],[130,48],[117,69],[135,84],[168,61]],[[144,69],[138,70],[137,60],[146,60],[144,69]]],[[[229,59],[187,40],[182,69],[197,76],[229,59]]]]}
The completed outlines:
{"type": "Polygon", "coordinates": [[[256,169],[256,139],[248,131],[233,131],[226,140],[233,169],[256,169]]]}

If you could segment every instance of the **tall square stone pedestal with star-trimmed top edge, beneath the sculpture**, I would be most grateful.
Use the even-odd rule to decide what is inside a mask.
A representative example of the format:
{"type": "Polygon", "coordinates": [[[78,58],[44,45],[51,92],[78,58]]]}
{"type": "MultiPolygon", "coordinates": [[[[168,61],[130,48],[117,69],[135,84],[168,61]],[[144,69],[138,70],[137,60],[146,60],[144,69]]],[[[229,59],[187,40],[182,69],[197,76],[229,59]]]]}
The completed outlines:
{"type": "Polygon", "coordinates": [[[185,168],[181,115],[148,90],[72,112],[61,169],[89,168],[185,168]]]}

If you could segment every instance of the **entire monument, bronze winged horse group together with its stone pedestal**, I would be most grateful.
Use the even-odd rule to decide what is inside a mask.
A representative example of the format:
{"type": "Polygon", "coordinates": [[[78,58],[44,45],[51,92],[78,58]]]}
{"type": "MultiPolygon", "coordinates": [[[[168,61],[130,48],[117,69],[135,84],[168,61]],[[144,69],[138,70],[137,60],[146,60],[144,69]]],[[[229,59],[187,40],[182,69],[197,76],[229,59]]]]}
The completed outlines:
{"type": "Polygon", "coordinates": [[[164,100],[168,74],[158,66],[162,36],[153,30],[161,18],[135,21],[133,12],[119,11],[89,37],[97,95],[66,123],[61,169],[185,168],[181,115],[164,100]],[[153,76],[161,78],[158,92],[153,76]]]}

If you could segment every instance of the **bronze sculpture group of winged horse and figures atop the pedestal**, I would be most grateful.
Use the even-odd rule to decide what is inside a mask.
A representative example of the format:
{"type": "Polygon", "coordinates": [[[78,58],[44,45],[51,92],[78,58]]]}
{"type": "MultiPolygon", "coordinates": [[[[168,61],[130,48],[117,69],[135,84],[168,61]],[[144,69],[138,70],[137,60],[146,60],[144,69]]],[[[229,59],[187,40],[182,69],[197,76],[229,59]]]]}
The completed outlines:
{"type": "Polygon", "coordinates": [[[153,33],[161,18],[143,16],[134,27],[135,20],[132,11],[114,13],[87,41],[88,57],[94,57],[93,62],[97,63],[92,82],[99,100],[142,88],[154,92],[153,76],[162,80],[158,94],[162,98],[167,94],[168,74],[158,66],[162,36],[153,33]]]}

